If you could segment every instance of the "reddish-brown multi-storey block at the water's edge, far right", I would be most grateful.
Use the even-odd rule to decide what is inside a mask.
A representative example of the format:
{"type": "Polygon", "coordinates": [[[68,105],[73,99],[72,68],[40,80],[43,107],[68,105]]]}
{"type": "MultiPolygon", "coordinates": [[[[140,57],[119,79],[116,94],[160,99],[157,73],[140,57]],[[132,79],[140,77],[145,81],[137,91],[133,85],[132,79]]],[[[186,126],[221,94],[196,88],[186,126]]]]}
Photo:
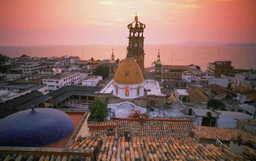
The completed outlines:
{"type": "Polygon", "coordinates": [[[231,71],[231,61],[215,61],[208,63],[207,72],[212,76],[228,74],[231,71]]]}

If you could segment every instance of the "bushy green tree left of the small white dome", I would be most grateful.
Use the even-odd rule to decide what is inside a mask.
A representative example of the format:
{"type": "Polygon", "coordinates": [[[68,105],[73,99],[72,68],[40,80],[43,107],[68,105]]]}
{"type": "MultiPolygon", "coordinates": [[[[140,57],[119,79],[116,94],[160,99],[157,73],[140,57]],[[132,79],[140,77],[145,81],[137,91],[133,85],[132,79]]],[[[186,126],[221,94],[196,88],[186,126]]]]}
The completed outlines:
{"type": "Polygon", "coordinates": [[[104,121],[108,116],[108,108],[105,102],[97,99],[92,102],[89,106],[90,110],[90,121],[104,121]]]}

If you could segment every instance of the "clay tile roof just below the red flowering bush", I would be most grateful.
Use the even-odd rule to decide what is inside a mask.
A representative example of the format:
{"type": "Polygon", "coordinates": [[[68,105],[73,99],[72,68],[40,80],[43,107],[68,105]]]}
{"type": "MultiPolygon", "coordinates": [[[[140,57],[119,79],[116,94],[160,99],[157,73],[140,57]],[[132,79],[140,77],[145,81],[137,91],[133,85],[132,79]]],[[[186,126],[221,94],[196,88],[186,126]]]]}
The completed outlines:
{"type": "Polygon", "coordinates": [[[124,136],[124,132],[131,132],[134,136],[153,136],[184,138],[190,136],[190,129],[193,127],[192,120],[177,119],[140,119],[111,118],[116,123],[118,136],[124,136]]]}

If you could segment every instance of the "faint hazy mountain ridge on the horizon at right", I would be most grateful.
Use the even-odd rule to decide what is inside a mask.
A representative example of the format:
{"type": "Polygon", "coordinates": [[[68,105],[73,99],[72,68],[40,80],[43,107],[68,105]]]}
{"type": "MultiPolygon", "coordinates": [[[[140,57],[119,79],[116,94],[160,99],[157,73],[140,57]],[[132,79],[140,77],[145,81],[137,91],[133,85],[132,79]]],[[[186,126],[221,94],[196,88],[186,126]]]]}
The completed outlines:
{"type": "Polygon", "coordinates": [[[180,44],[182,44],[182,45],[256,46],[256,42],[216,42],[216,41],[196,42],[196,41],[188,41],[188,42],[183,42],[180,44]]]}

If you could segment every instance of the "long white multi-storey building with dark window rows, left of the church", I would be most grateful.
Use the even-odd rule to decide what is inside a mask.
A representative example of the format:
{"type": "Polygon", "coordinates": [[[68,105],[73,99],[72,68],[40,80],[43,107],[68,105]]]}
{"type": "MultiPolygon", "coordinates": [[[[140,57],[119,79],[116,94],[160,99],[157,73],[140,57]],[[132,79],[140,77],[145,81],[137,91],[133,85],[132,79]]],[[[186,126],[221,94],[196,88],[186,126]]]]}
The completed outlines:
{"type": "Polygon", "coordinates": [[[78,85],[80,80],[79,72],[64,72],[44,78],[43,83],[49,90],[57,90],[63,86],[78,85]]]}

